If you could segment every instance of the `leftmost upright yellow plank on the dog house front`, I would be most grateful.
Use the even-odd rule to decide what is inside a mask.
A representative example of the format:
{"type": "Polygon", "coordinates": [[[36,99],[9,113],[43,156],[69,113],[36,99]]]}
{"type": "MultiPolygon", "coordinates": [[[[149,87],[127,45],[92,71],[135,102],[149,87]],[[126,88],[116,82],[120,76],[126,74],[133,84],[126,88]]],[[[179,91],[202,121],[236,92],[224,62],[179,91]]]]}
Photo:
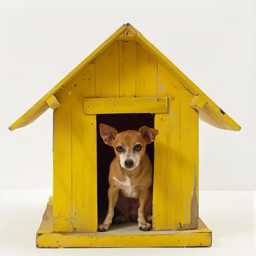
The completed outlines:
{"type": "Polygon", "coordinates": [[[57,93],[61,106],[54,111],[53,217],[54,231],[72,230],[72,126],[70,86],[57,93]]]}

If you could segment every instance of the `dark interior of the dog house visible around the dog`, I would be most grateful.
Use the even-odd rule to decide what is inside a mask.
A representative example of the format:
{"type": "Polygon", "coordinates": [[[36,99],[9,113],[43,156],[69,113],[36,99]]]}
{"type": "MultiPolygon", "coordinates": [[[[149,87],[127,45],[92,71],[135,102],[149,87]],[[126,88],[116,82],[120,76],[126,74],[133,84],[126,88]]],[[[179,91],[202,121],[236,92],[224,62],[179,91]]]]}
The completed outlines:
{"type": "MultiPolygon", "coordinates": [[[[118,132],[125,130],[139,130],[141,126],[154,128],[154,114],[101,114],[97,115],[97,193],[98,218],[102,222],[108,209],[108,172],[109,166],[115,157],[114,149],[104,143],[99,132],[99,124],[107,124],[118,132]]],[[[154,159],[154,143],[146,148],[150,159],[154,159]]]]}

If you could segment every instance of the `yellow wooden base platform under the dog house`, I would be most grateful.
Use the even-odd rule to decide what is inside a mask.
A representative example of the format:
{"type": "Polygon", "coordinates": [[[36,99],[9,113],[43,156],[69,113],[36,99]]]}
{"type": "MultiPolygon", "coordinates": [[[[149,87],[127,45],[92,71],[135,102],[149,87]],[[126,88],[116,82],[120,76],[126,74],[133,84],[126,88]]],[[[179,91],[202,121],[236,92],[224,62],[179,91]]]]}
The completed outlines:
{"type": "Polygon", "coordinates": [[[52,197],[36,234],[38,248],[83,247],[207,247],[212,231],[199,221],[199,228],[185,231],[140,231],[135,222],[111,225],[107,232],[54,232],[52,197]]]}

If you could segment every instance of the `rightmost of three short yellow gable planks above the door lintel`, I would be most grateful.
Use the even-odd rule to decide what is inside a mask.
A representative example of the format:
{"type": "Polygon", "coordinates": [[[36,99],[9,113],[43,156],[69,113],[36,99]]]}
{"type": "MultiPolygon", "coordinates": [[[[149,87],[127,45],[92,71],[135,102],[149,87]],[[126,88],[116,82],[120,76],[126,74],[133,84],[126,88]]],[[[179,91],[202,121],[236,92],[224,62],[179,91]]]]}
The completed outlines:
{"type": "Polygon", "coordinates": [[[136,53],[136,95],[137,97],[157,95],[157,62],[139,44],[136,53]]]}

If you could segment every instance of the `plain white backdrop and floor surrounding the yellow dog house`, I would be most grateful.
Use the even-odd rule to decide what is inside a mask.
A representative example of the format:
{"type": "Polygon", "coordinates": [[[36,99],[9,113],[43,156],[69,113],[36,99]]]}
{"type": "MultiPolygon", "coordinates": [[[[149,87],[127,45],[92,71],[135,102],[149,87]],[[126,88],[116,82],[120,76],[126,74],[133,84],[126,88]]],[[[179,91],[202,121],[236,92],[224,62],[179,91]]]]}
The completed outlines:
{"type": "MultiPolygon", "coordinates": [[[[118,252],[34,251],[52,190],[52,110],[27,127],[8,126],[126,22],[242,126],[233,132],[200,121],[200,190],[256,190],[255,0],[0,0],[0,189],[32,189],[2,190],[4,255],[118,252]]],[[[202,192],[211,249],[122,252],[255,255],[255,193],[202,192]]]]}

